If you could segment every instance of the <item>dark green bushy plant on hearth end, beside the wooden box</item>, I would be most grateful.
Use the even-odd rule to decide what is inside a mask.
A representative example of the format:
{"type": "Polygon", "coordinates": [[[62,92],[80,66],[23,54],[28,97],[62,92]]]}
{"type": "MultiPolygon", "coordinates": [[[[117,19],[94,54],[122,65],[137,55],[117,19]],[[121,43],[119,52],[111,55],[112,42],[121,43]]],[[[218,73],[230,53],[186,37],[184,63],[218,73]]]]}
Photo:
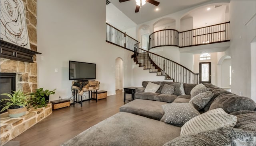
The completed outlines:
{"type": "Polygon", "coordinates": [[[46,107],[47,103],[49,102],[49,96],[51,94],[55,94],[55,90],[44,90],[44,88],[36,89],[35,92],[31,93],[31,95],[34,95],[33,99],[33,107],[46,107]]]}

